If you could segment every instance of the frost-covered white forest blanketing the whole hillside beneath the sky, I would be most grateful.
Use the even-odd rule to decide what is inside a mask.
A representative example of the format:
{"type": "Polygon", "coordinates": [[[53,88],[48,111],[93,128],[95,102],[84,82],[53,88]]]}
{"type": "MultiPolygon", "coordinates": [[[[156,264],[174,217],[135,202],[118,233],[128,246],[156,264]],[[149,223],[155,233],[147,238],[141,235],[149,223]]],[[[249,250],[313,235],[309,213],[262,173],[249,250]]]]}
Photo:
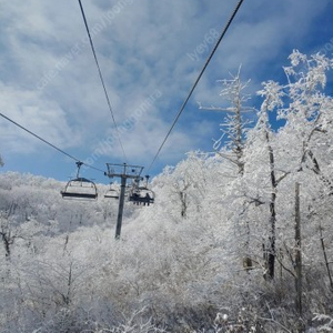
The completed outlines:
{"type": "Polygon", "coordinates": [[[221,81],[214,152],[127,202],[120,240],[108,185],[82,203],[1,173],[0,332],[333,332],[333,61],[289,60],[259,107],[240,73],[221,81]]]}

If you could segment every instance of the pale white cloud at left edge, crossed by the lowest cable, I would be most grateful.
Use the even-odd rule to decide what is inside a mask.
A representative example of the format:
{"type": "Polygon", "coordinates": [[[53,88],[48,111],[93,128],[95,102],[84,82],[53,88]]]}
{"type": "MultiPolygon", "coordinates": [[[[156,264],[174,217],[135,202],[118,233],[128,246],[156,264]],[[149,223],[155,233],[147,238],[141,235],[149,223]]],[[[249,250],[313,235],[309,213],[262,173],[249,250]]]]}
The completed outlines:
{"type": "MultiPolygon", "coordinates": [[[[56,101],[43,100],[34,91],[4,85],[0,81],[0,110],[6,117],[62,149],[77,147],[80,131],[70,127],[56,101]]],[[[40,141],[1,118],[1,149],[14,153],[38,152],[40,141]]]]}

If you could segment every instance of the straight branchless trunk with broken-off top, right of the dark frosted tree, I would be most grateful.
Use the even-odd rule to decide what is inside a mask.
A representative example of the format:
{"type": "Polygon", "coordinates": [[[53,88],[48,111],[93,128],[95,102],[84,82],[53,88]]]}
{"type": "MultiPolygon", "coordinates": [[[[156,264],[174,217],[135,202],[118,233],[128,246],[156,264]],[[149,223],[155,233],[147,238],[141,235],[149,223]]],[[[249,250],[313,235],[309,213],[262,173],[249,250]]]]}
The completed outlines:
{"type": "Polygon", "coordinates": [[[300,184],[295,183],[295,287],[296,310],[302,315],[302,252],[301,252],[301,213],[300,213],[300,184]]]}

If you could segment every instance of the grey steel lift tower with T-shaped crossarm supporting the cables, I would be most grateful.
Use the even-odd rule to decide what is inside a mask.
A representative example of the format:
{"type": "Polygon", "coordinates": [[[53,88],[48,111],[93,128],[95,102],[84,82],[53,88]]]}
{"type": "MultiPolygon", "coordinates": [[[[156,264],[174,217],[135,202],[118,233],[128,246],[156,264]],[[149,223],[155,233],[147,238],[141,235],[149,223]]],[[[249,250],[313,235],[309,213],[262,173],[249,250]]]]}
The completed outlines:
{"type": "Polygon", "coordinates": [[[115,228],[115,239],[119,240],[121,233],[127,181],[128,179],[132,179],[139,182],[141,180],[141,172],[143,170],[143,167],[128,165],[127,163],[123,164],[107,163],[107,167],[108,167],[108,172],[105,172],[105,175],[108,175],[109,178],[117,176],[121,179],[118,219],[117,219],[117,228],[115,228]]]}

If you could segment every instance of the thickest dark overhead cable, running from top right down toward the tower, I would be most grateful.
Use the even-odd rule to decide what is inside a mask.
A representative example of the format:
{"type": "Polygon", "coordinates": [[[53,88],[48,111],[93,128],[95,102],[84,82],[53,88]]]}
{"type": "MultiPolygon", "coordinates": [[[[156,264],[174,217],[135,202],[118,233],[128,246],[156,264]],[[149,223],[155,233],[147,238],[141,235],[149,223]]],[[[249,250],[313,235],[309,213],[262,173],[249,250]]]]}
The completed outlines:
{"type": "Polygon", "coordinates": [[[223,30],[222,30],[222,33],[220,34],[220,37],[219,37],[219,39],[218,39],[218,41],[216,41],[216,43],[215,43],[214,48],[212,49],[211,53],[209,54],[209,57],[208,57],[208,59],[206,59],[206,61],[205,61],[205,63],[204,63],[204,65],[203,65],[203,68],[202,68],[201,72],[200,72],[200,74],[199,74],[198,79],[195,80],[195,82],[194,82],[194,84],[193,84],[192,89],[190,90],[190,92],[189,92],[189,94],[188,94],[186,99],[184,100],[183,104],[181,105],[181,108],[180,108],[179,112],[176,113],[176,115],[175,115],[175,119],[174,119],[174,121],[173,121],[173,123],[172,123],[172,125],[171,125],[171,128],[170,128],[169,132],[167,133],[167,135],[165,135],[164,140],[162,141],[162,144],[160,145],[160,148],[159,148],[159,150],[158,150],[157,154],[154,155],[154,158],[153,158],[153,160],[152,160],[152,162],[151,162],[151,164],[150,164],[150,167],[149,167],[148,171],[150,171],[150,170],[151,170],[152,165],[153,165],[153,164],[154,164],[154,162],[157,161],[157,159],[158,159],[158,157],[159,157],[159,154],[160,154],[160,152],[161,152],[161,150],[162,150],[163,145],[165,144],[165,142],[167,142],[167,140],[168,140],[169,135],[171,134],[171,132],[172,132],[173,128],[175,127],[175,124],[176,124],[176,122],[178,122],[178,120],[179,120],[180,115],[181,115],[181,114],[182,114],[182,112],[184,111],[184,109],[185,109],[185,107],[186,107],[186,104],[188,104],[188,102],[189,102],[189,100],[190,100],[190,98],[191,98],[191,95],[192,95],[192,93],[193,93],[194,89],[196,88],[196,85],[198,85],[198,83],[199,83],[199,81],[200,81],[200,79],[201,79],[201,77],[202,77],[203,72],[205,71],[206,67],[209,65],[209,63],[210,63],[211,59],[213,58],[213,56],[214,56],[214,53],[215,53],[216,49],[219,48],[219,44],[221,43],[221,41],[222,41],[222,39],[223,39],[224,34],[226,33],[226,31],[228,31],[228,29],[229,29],[230,24],[232,23],[232,21],[233,21],[233,19],[234,19],[234,17],[235,17],[235,14],[238,13],[238,11],[239,11],[240,7],[241,7],[241,6],[242,6],[242,3],[243,3],[243,1],[244,1],[244,0],[240,0],[240,1],[239,1],[239,3],[236,4],[236,7],[235,7],[234,11],[232,12],[232,14],[231,14],[230,19],[228,20],[228,22],[226,22],[225,27],[223,28],[223,30]]]}

